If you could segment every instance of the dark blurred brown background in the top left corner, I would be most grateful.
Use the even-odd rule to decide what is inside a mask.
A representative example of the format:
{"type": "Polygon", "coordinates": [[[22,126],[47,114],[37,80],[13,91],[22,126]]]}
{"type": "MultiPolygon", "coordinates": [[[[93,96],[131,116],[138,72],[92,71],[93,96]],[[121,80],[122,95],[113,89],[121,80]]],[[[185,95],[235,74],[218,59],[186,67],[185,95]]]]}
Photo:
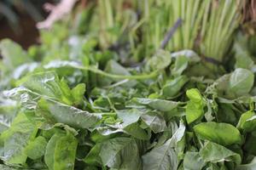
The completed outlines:
{"type": "Polygon", "coordinates": [[[57,3],[57,0],[0,0],[1,4],[8,7],[12,13],[16,15],[18,22],[15,22],[15,26],[10,23],[6,15],[1,14],[0,8],[0,41],[3,38],[10,38],[15,42],[20,43],[23,48],[28,48],[30,45],[38,43],[38,29],[36,23],[40,20],[44,20],[47,16],[47,12],[44,11],[44,3],[57,3]],[[20,2],[21,3],[20,3],[20,2]],[[29,1],[33,5],[33,8],[26,8],[26,1],[29,1]],[[40,18],[35,20],[32,17],[30,10],[37,10],[40,14],[40,18]]]}

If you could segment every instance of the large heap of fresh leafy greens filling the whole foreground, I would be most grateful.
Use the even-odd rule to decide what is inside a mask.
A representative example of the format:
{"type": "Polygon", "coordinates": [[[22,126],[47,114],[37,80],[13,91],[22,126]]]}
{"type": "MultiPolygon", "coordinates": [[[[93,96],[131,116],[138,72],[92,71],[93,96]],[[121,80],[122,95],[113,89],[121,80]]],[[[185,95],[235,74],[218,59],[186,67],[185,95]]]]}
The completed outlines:
{"type": "MultiPolygon", "coordinates": [[[[222,68],[215,65],[216,72],[207,71],[203,54],[196,53],[194,41],[184,36],[194,39],[200,26],[187,32],[190,24],[185,24],[175,32],[184,36],[184,46],[177,48],[181,50],[149,49],[143,38],[152,31],[141,26],[150,23],[139,17],[131,20],[128,16],[134,16],[136,9],[130,6],[145,9],[168,2],[120,2],[90,3],[72,28],[57,23],[51,31],[41,31],[41,45],[27,51],[8,39],[0,42],[1,169],[255,169],[253,38],[242,32],[227,35],[224,47],[231,45],[231,38],[233,48],[228,52],[224,48],[224,53],[214,48],[214,54],[230,53],[235,58],[222,68]],[[102,27],[97,27],[99,13],[102,19],[108,18],[102,20],[102,27]],[[88,25],[83,27],[84,22],[88,25]],[[151,55],[145,55],[143,62],[127,57],[134,54],[132,49],[146,54],[139,52],[144,48],[151,55]]],[[[192,5],[181,2],[187,8],[192,5]]],[[[193,11],[207,6],[196,2],[193,11]]],[[[221,6],[230,4],[235,3],[221,6]]],[[[203,20],[201,15],[186,17],[203,20]]],[[[215,15],[207,14],[205,20],[209,16],[215,15]]],[[[234,19],[233,15],[227,18],[234,19]]],[[[207,25],[207,34],[212,26],[207,25]]],[[[221,26],[229,27],[230,22],[221,26]]],[[[219,35],[225,32],[217,30],[219,35]]],[[[161,39],[165,34],[160,32],[161,39]]],[[[177,37],[171,39],[170,47],[178,44],[177,37]]],[[[209,49],[218,46],[212,44],[209,49]]]]}

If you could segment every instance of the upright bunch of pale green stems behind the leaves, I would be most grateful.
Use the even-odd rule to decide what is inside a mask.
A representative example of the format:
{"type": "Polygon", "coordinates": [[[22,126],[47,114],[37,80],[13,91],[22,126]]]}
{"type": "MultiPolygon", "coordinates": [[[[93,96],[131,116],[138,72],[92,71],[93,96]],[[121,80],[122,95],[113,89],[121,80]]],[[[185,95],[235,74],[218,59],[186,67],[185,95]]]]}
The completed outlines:
{"type": "Polygon", "coordinates": [[[125,9],[124,3],[124,0],[98,1],[100,42],[102,48],[108,48],[120,37],[124,38],[125,33],[131,54],[137,59],[154,54],[166,32],[181,19],[182,24],[166,49],[194,49],[202,56],[222,62],[241,20],[240,0],[143,0],[131,1],[132,8],[125,9]],[[127,10],[133,10],[133,14],[127,10]],[[138,35],[140,31],[143,33],[138,35]],[[143,54],[137,57],[142,48],[143,54]]]}

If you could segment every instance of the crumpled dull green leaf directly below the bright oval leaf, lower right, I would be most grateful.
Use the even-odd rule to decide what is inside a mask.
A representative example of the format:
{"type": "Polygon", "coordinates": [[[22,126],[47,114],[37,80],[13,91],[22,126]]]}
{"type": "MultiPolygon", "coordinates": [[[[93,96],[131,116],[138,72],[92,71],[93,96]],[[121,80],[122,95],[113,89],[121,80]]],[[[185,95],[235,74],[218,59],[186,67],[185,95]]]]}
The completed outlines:
{"type": "Polygon", "coordinates": [[[199,155],[204,161],[221,162],[234,161],[237,165],[241,163],[241,156],[237,153],[228,150],[222,145],[207,142],[200,150],[199,155]]]}

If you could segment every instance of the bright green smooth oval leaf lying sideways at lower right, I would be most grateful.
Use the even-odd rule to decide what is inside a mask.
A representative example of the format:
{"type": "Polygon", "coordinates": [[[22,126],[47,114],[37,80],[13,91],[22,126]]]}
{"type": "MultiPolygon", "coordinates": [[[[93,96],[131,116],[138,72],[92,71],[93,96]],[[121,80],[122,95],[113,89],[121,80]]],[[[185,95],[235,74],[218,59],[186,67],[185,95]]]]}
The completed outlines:
{"type": "Polygon", "coordinates": [[[236,127],[228,123],[201,122],[194,127],[195,134],[201,139],[217,144],[241,144],[241,134],[236,127]]]}

